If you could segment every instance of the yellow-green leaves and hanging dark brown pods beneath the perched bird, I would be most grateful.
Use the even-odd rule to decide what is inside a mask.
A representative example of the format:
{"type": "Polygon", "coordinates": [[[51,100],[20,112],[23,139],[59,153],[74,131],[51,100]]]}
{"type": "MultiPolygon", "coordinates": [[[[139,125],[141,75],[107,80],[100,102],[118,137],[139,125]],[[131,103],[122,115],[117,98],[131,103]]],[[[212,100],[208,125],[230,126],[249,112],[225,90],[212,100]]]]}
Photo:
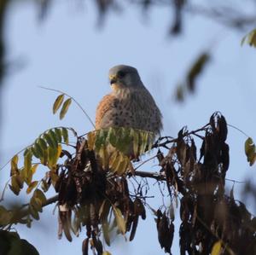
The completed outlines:
{"type": "MultiPolygon", "coordinates": [[[[60,108],[61,103],[55,101],[54,109],[56,105],[60,108]]],[[[84,136],[77,136],[72,128],[46,130],[25,149],[23,164],[20,165],[18,154],[10,161],[9,188],[19,195],[26,184],[26,193],[32,196],[25,207],[8,210],[0,206],[2,233],[11,235],[8,231],[16,223],[30,228],[32,219],[39,219],[44,206],[58,201],[59,237],[64,233],[72,241],[73,235],[78,236],[85,228],[83,254],[88,254],[89,246],[96,254],[110,254],[104,251],[102,240],[110,246],[115,235],[129,233],[132,241],[139,218],[147,217],[148,207],[155,217],[160,246],[171,254],[173,207],[179,200],[181,255],[215,255],[220,251],[252,254],[256,252],[256,218],[234,199],[233,190],[230,196],[224,194],[230,162],[227,133],[226,120],[220,113],[213,113],[209,123],[198,130],[189,132],[183,128],[177,138],[165,136],[156,142],[146,131],[127,128],[94,130],[84,136]],[[76,139],[75,146],[69,143],[69,132],[76,139]],[[201,139],[200,153],[195,137],[201,139]],[[151,148],[158,148],[154,155],[160,165],[157,174],[138,171],[139,166],[135,169],[132,162],[141,161],[142,154],[151,148]],[[46,171],[41,180],[34,180],[38,165],[44,165],[46,171]],[[168,197],[170,206],[149,206],[147,177],[154,178],[160,186],[166,185],[161,194],[168,197]],[[130,185],[133,179],[135,182],[130,185]],[[47,200],[44,193],[50,186],[57,196],[47,200]]],[[[247,158],[251,157],[252,147],[254,154],[249,138],[245,147],[247,158]]]]}

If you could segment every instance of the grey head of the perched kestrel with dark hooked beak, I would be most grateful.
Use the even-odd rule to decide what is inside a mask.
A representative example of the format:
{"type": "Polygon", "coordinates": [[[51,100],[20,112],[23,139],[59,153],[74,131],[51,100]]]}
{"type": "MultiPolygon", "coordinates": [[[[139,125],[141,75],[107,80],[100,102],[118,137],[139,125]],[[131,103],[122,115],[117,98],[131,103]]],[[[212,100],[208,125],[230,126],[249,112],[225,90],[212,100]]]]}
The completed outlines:
{"type": "Polygon", "coordinates": [[[143,86],[141,78],[134,67],[119,65],[109,70],[109,81],[114,91],[132,90],[143,86]]]}

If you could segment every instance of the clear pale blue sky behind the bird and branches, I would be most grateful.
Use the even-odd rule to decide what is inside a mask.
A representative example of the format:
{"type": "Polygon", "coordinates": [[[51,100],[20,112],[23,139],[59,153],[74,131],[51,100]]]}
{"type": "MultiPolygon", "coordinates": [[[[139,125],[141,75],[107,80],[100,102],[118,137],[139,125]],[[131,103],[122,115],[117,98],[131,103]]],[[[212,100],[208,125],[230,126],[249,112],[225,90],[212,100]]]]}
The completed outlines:
{"type": "MultiPolygon", "coordinates": [[[[93,4],[78,6],[58,1],[47,19],[39,23],[37,9],[30,1],[13,4],[6,29],[7,59],[18,60],[22,65],[10,73],[4,84],[0,165],[50,127],[72,126],[79,134],[92,130],[90,121],[74,104],[60,121],[51,113],[58,95],[39,86],[65,91],[94,119],[97,103],[110,91],[108,69],[117,64],[137,67],[163,114],[162,135],[176,136],[184,125],[189,130],[197,129],[207,123],[213,112],[220,111],[228,123],[255,140],[255,49],[241,47],[243,33],[230,32],[199,16],[187,15],[183,33],[172,38],[167,32],[171,20],[169,9],[152,9],[146,17],[141,10],[129,6],[120,14],[108,15],[99,28],[93,4]],[[212,52],[211,62],[198,80],[195,95],[179,104],[173,100],[174,88],[202,49],[212,52]]],[[[246,138],[230,128],[227,178],[253,179],[255,166],[249,167],[244,155],[246,138]]],[[[144,170],[148,167],[151,165],[145,165],[144,170]]],[[[152,167],[152,171],[157,168],[152,167]]],[[[9,169],[3,169],[1,178],[7,179],[8,175],[9,169]]],[[[228,188],[232,184],[228,183],[228,188]]],[[[1,182],[1,189],[3,185],[1,182]]],[[[237,198],[241,197],[241,188],[236,184],[237,198]]],[[[154,192],[158,192],[157,188],[153,188],[154,192]]],[[[10,191],[7,198],[13,198],[10,191]]],[[[157,199],[160,200],[156,195],[152,201],[155,206],[160,204],[157,199]]],[[[247,206],[256,213],[256,208],[247,206]]],[[[72,243],[65,238],[57,240],[53,209],[49,206],[40,215],[42,222],[34,223],[32,229],[18,226],[20,236],[42,255],[81,254],[83,236],[73,238],[72,243]]],[[[176,214],[178,233],[178,210],[176,214]]],[[[164,254],[157,241],[154,217],[148,212],[148,219],[140,221],[134,241],[120,239],[108,250],[113,254],[164,254]]],[[[172,252],[178,253],[177,235],[172,252]]]]}

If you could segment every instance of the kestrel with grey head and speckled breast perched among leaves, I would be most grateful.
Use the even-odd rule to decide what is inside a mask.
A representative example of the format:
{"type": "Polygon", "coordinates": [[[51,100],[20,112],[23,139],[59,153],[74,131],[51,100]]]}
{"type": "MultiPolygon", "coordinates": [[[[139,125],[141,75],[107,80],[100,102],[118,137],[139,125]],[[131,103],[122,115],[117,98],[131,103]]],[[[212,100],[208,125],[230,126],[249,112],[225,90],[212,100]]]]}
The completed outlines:
{"type": "Polygon", "coordinates": [[[112,92],[102,98],[96,109],[96,130],[130,127],[159,135],[162,115],[137,69],[125,65],[112,67],[109,80],[112,92]]]}

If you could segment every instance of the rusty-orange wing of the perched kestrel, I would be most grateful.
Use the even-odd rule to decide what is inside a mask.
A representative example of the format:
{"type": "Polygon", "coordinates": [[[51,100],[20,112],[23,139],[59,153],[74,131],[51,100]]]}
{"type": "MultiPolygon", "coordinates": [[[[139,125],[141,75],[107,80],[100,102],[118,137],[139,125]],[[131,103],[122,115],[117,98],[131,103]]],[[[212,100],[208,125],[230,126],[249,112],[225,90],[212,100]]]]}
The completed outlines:
{"type": "Polygon", "coordinates": [[[118,99],[108,94],[102,98],[96,109],[96,130],[108,127],[112,121],[111,115],[118,104],[118,99]]]}

